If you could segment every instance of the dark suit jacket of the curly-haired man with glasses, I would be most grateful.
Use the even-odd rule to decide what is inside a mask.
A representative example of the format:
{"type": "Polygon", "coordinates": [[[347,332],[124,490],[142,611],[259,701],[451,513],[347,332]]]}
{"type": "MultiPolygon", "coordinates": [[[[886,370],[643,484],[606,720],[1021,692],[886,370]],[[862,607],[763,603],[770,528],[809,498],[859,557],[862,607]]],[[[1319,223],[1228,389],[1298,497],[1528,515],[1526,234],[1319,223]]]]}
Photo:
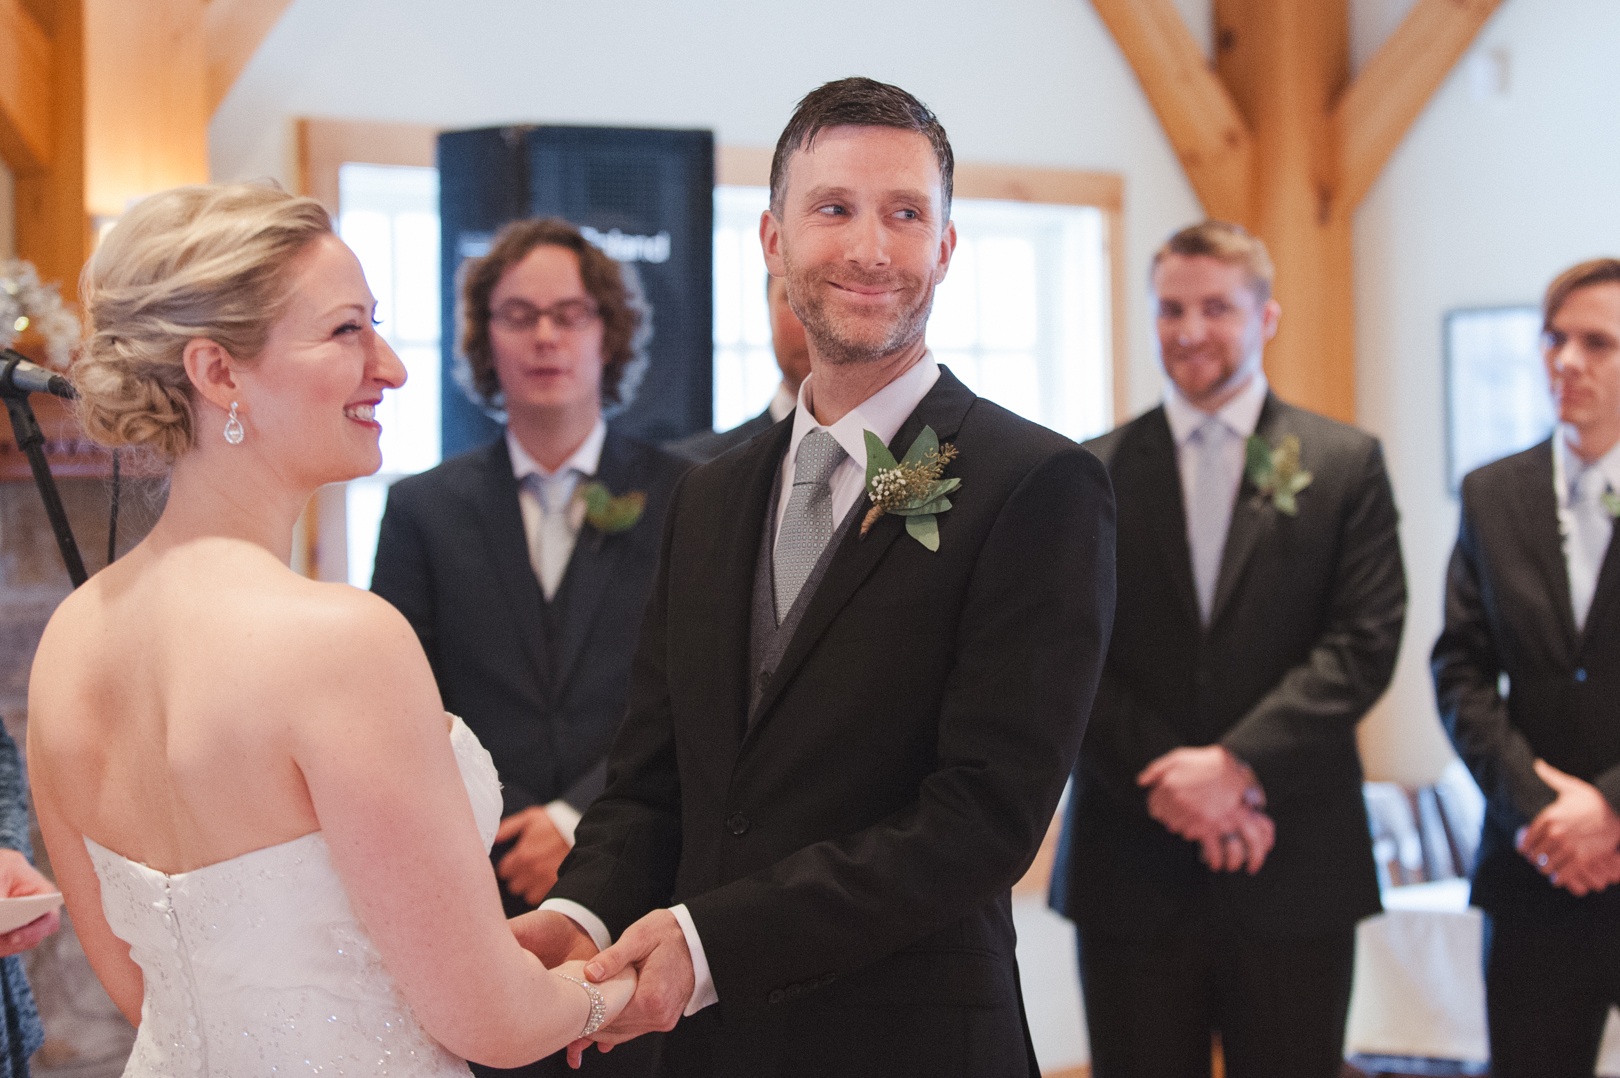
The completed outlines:
{"type": "Polygon", "coordinates": [[[371,590],[416,629],[444,707],[489,749],[507,815],[557,798],[583,811],[601,791],[664,511],[687,467],[608,433],[596,480],[645,491],[646,509],[629,532],[580,530],[551,639],[505,436],[389,490],[371,590]]]}

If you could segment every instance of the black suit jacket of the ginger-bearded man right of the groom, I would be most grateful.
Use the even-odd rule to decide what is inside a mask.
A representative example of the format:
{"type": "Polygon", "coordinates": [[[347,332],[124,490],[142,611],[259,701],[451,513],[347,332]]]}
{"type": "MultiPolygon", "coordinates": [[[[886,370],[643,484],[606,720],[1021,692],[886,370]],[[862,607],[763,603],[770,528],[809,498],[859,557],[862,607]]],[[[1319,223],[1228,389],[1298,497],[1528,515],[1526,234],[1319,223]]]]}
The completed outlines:
{"type": "Polygon", "coordinates": [[[1256,433],[1296,434],[1314,481],[1293,517],[1243,481],[1207,631],[1165,410],[1090,443],[1119,504],[1119,610],[1053,874],[1053,905],[1082,927],[1147,937],[1210,901],[1246,932],[1301,937],[1379,909],[1356,723],[1406,616],[1383,454],[1275,396],[1256,433]],[[1252,877],[1204,867],[1136,785],[1165,752],[1215,742],[1254,768],[1277,822],[1252,877]]]}

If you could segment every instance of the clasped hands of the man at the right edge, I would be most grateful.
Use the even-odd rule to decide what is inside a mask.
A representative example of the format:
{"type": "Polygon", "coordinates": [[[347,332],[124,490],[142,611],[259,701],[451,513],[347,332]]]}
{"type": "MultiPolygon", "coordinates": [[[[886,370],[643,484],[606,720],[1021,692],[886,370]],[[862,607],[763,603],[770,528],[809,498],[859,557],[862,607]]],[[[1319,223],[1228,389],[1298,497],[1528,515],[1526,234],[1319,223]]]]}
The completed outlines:
{"type": "Polygon", "coordinates": [[[1576,898],[1620,883],[1620,815],[1596,786],[1545,760],[1536,760],[1536,775],[1558,798],[1520,828],[1518,851],[1576,898]]]}

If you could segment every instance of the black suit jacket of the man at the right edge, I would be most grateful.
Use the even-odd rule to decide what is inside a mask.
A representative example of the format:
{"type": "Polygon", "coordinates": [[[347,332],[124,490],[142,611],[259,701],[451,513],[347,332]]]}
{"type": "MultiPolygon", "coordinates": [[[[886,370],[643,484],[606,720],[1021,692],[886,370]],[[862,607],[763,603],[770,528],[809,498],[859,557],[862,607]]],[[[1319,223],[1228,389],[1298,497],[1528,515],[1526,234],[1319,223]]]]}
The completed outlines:
{"type": "Polygon", "coordinates": [[[1486,793],[1474,905],[1620,924],[1620,888],[1575,898],[1513,849],[1515,832],[1555,798],[1536,775],[1537,757],[1592,783],[1620,811],[1620,543],[1609,543],[1576,631],[1550,439],[1463,480],[1432,669],[1440,720],[1486,793]]]}

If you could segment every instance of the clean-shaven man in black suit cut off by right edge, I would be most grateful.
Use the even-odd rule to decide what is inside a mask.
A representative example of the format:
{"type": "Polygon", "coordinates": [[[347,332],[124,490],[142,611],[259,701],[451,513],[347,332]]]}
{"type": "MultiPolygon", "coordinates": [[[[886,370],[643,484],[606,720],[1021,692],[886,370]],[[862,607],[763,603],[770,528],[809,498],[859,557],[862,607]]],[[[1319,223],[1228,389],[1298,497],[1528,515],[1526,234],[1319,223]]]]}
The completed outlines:
{"type": "Polygon", "coordinates": [[[1495,1078],[1591,1075],[1620,1003],[1620,261],[1542,305],[1552,438],[1463,480],[1434,684],[1486,793],[1495,1078]]]}

